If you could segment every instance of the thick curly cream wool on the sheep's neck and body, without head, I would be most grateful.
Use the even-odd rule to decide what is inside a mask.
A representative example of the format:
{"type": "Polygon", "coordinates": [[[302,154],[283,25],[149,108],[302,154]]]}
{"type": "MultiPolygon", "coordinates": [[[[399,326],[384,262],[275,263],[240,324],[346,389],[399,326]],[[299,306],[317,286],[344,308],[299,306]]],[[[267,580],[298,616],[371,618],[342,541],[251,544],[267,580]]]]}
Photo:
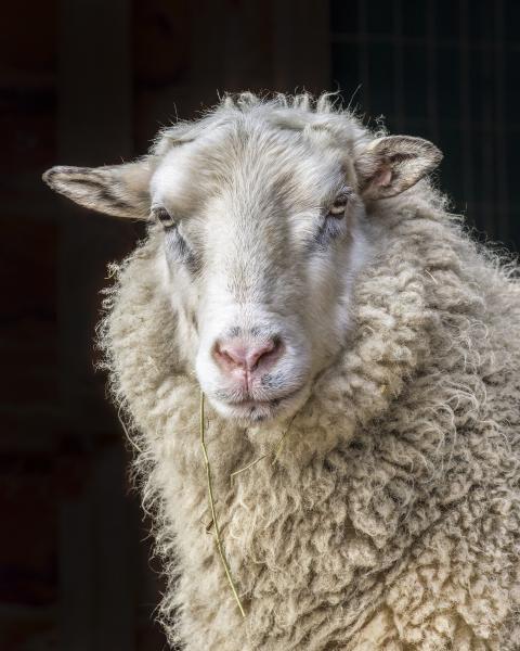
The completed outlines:
{"type": "Polygon", "coordinates": [[[159,238],[120,266],[101,341],[190,651],[520,649],[520,286],[421,182],[375,204],[350,340],[283,427],[208,409],[226,585],[198,443],[198,387],[159,291],[159,238]]]}

